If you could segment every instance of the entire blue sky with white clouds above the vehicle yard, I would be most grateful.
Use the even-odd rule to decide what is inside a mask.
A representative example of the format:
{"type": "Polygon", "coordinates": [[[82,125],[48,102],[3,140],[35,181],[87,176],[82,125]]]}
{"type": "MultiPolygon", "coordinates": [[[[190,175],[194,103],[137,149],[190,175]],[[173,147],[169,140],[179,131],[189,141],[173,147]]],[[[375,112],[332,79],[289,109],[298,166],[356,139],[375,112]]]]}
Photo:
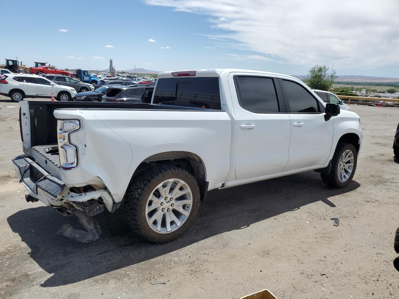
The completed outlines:
{"type": "Polygon", "coordinates": [[[103,70],[112,58],[117,70],[243,68],[290,75],[334,63],[338,75],[399,77],[399,1],[380,0],[377,11],[373,3],[4,1],[1,10],[10,13],[2,14],[0,59],[103,70]]]}

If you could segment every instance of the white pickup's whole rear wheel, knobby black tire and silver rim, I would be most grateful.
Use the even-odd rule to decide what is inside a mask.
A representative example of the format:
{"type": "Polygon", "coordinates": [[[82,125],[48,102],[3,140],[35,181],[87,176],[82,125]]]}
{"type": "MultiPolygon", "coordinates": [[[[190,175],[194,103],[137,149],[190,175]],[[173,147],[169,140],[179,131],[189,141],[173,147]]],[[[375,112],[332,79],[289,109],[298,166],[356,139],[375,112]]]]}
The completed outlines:
{"type": "Polygon", "coordinates": [[[154,165],[135,177],[126,191],[126,218],[134,231],[154,243],[181,236],[197,216],[199,187],[188,171],[154,165]]]}

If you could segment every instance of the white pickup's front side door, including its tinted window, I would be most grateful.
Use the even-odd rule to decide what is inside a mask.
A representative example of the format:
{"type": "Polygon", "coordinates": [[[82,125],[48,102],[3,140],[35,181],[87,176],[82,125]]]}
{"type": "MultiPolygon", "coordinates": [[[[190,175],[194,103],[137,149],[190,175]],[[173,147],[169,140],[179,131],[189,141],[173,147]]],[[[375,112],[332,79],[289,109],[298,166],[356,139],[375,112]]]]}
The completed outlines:
{"type": "Polygon", "coordinates": [[[333,119],[324,120],[324,106],[299,82],[279,79],[290,117],[290,159],[284,171],[324,165],[330,155],[333,119]]]}

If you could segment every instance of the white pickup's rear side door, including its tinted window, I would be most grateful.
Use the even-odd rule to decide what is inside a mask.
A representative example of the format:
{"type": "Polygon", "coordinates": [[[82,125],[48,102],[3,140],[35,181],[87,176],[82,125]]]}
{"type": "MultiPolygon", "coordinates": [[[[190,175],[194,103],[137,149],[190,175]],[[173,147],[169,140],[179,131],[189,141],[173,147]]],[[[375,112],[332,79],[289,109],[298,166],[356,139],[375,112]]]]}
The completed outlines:
{"type": "Polygon", "coordinates": [[[235,113],[235,176],[280,173],[288,162],[290,118],[275,76],[231,73],[235,113]]]}

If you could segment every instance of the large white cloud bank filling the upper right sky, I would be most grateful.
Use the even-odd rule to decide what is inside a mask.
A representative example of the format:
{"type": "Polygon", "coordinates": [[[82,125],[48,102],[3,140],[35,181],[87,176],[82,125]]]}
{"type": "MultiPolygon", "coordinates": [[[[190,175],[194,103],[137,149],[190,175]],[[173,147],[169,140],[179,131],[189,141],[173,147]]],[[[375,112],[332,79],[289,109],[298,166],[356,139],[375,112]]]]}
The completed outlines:
{"type": "Polygon", "coordinates": [[[338,69],[399,63],[397,0],[380,0],[377,9],[375,0],[363,0],[361,5],[348,0],[336,0],[334,5],[320,0],[145,2],[209,16],[215,34],[220,30],[226,34],[208,38],[244,45],[266,60],[304,66],[334,62],[338,69]]]}

